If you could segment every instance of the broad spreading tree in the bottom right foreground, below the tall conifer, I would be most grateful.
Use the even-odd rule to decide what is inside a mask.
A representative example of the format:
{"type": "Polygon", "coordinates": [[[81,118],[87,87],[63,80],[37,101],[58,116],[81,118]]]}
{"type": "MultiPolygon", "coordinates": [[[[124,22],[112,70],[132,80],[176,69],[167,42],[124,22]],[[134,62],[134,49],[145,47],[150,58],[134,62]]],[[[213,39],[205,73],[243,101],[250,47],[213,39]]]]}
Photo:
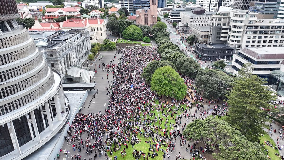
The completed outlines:
{"type": "Polygon", "coordinates": [[[213,153],[217,160],[268,159],[258,143],[248,141],[238,130],[218,118],[195,120],[187,125],[183,135],[187,140],[199,140],[210,151],[220,151],[213,153]]]}

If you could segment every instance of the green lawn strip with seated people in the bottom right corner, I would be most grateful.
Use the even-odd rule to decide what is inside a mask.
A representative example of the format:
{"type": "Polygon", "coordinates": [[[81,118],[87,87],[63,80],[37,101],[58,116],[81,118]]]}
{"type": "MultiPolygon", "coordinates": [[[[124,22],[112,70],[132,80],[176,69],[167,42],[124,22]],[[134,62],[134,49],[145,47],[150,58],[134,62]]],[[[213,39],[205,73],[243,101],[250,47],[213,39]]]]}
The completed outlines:
{"type": "MultiPolygon", "coordinates": [[[[273,160],[280,160],[281,158],[274,154],[274,153],[278,153],[279,154],[279,150],[278,149],[274,149],[275,143],[274,143],[274,141],[272,139],[270,139],[270,135],[263,134],[263,136],[260,136],[260,144],[261,143],[265,144],[264,141],[270,141],[270,143],[273,144],[273,147],[265,145],[265,147],[262,147],[262,151],[264,149],[268,149],[268,156],[271,159],[273,159],[273,160]]],[[[264,151],[264,154],[267,155],[267,152],[264,151]]]]}

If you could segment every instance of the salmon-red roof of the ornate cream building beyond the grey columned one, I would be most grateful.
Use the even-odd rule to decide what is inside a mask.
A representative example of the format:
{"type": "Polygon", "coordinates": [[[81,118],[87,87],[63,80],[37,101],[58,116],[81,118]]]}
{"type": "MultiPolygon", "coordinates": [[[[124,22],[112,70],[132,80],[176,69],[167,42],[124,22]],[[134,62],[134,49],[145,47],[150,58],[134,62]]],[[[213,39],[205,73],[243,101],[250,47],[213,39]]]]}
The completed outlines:
{"type": "Polygon", "coordinates": [[[100,24],[103,24],[104,19],[85,19],[85,21],[82,19],[72,19],[70,21],[70,19],[68,19],[67,21],[64,21],[62,27],[84,27],[87,26],[87,22],[89,22],[89,24],[98,24],[98,20],[100,21],[100,24]]]}

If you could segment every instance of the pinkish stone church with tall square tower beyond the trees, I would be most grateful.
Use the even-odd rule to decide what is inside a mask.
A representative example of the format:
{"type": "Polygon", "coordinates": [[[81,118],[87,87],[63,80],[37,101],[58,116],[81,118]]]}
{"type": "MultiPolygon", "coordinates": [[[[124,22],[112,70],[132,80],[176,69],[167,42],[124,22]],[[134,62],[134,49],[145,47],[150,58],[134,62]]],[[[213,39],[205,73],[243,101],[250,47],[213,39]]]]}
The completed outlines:
{"type": "Polygon", "coordinates": [[[153,26],[157,22],[158,0],[150,0],[150,9],[144,7],[136,10],[136,24],[153,26]]]}

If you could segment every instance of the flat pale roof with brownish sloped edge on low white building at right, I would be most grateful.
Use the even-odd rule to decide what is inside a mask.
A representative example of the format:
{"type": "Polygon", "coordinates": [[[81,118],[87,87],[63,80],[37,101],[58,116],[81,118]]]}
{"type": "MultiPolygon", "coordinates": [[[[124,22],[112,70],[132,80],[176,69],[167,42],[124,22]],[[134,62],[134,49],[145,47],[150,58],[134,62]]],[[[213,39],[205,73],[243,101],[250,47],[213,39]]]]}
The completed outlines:
{"type": "Polygon", "coordinates": [[[245,47],[241,52],[256,59],[284,59],[284,47],[245,47]]]}

